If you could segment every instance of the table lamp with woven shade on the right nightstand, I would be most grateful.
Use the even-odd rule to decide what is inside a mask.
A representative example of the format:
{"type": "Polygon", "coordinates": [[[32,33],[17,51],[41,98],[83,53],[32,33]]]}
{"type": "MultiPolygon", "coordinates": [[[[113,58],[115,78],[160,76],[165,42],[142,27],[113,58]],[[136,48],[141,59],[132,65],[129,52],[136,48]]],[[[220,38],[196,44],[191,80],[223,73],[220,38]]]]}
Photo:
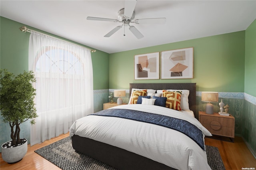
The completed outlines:
{"type": "Polygon", "coordinates": [[[210,91],[202,91],[202,101],[209,102],[206,105],[205,112],[207,114],[213,114],[213,105],[210,102],[218,102],[219,93],[218,92],[210,92],[210,91]]]}

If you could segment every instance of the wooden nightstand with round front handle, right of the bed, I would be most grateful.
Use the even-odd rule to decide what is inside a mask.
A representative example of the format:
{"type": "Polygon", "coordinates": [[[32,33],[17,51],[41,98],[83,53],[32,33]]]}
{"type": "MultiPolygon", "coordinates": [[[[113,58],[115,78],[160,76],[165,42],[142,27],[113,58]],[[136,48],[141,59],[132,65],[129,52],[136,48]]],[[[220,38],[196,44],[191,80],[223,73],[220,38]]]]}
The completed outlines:
{"type": "Polygon", "coordinates": [[[229,137],[234,142],[235,118],[232,115],[221,116],[218,113],[209,115],[205,112],[199,112],[199,121],[212,134],[229,137]]]}

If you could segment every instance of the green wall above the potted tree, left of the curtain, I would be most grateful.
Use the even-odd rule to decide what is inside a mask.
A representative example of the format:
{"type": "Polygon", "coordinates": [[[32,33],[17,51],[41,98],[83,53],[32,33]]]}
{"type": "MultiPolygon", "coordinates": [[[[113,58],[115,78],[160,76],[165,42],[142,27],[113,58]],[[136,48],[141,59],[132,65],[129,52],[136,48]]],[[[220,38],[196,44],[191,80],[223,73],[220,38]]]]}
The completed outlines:
{"type": "Polygon", "coordinates": [[[19,31],[22,24],[3,17],[0,19],[1,69],[8,69],[16,75],[28,71],[29,35],[19,31]]]}

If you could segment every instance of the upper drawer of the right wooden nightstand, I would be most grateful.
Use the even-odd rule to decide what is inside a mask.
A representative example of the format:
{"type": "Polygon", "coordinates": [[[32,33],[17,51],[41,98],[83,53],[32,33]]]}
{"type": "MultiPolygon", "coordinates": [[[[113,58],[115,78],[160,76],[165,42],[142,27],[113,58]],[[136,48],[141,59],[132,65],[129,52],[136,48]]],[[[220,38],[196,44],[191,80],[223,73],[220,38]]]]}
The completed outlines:
{"type": "Polygon", "coordinates": [[[219,124],[224,127],[234,127],[234,119],[233,117],[228,116],[228,117],[216,117],[216,116],[208,116],[208,115],[200,115],[200,122],[202,124],[219,124]]]}

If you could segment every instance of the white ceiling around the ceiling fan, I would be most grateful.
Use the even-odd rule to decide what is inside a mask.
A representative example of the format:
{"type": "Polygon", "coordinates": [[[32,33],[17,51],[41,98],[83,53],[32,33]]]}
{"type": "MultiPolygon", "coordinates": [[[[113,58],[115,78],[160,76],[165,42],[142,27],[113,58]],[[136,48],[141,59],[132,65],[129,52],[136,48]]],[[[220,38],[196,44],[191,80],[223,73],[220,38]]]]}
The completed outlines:
{"type": "Polygon", "coordinates": [[[118,19],[124,0],[1,0],[0,6],[5,18],[107,53],[246,30],[256,19],[256,0],[137,0],[134,20],[166,18],[164,25],[130,23],[144,35],[138,40],[127,27],[126,36],[122,27],[104,37],[122,23],[86,20],[118,19]]]}

